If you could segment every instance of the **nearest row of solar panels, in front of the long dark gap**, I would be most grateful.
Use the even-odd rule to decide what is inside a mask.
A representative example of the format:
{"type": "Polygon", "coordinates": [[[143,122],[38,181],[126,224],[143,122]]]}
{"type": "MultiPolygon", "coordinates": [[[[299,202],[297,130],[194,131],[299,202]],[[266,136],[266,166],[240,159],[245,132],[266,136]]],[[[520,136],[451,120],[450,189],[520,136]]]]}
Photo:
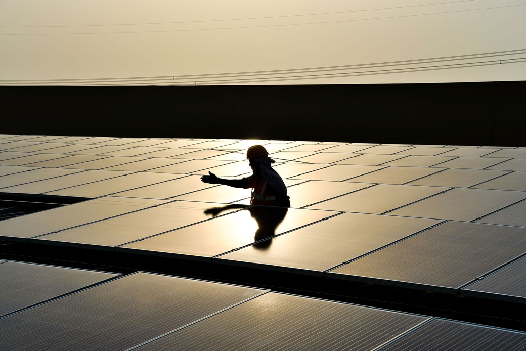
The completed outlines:
{"type": "Polygon", "coordinates": [[[0,261],[0,349],[522,350],[526,333],[173,276],[0,261]]]}

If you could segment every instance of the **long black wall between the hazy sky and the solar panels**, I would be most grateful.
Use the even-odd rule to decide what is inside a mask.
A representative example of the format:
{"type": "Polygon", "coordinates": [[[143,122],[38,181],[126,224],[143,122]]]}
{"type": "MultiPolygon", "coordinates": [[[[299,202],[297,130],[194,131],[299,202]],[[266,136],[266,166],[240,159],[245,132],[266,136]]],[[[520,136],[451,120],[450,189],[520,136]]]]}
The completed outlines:
{"type": "Polygon", "coordinates": [[[0,133],[524,146],[526,82],[0,87],[0,133]]]}

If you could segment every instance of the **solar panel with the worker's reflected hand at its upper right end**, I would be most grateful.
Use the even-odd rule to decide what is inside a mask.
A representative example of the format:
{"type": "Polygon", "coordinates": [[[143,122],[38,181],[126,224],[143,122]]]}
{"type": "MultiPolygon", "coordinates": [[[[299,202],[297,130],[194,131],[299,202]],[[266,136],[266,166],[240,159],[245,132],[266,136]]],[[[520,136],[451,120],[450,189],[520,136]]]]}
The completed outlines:
{"type": "MultiPolygon", "coordinates": [[[[44,235],[32,239],[32,242],[46,240],[66,246],[82,244],[113,250],[114,246],[210,219],[212,215],[205,213],[205,210],[218,206],[222,204],[177,201],[44,235]]],[[[237,209],[232,208],[225,213],[237,209]]]]}

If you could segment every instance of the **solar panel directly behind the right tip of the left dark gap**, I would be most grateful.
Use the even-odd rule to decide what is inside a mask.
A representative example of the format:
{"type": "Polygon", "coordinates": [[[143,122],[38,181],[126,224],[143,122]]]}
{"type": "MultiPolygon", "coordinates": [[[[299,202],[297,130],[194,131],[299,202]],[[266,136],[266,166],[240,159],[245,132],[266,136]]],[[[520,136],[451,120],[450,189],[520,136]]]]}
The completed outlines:
{"type": "Polygon", "coordinates": [[[95,183],[78,185],[72,188],[57,190],[55,192],[49,192],[46,194],[94,198],[123,192],[124,190],[135,189],[141,186],[161,183],[165,182],[166,180],[175,179],[179,177],[179,174],[138,172],[124,175],[119,178],[99,180],[95,183]]]}

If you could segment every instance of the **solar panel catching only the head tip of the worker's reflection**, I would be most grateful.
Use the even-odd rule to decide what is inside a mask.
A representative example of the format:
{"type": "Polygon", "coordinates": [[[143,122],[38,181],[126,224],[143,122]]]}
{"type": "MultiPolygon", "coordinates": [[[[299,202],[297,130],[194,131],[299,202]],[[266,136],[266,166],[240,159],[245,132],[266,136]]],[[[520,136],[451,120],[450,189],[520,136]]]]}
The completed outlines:
{"type": "Polygon", "coordinates": [[[214,262],[287,267],[322,275],[324,270],[438,223],[436,219],[344,213],[272,238],[265,250],[252,245],[214,258],[214,262]]]}

